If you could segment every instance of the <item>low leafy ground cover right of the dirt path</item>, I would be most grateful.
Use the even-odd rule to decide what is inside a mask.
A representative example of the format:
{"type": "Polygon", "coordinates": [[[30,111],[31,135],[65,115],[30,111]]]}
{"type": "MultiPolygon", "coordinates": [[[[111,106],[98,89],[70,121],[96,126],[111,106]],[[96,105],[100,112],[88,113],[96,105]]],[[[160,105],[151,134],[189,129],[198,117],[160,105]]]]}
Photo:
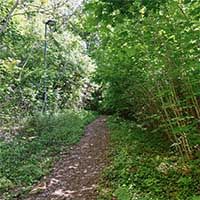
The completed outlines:
{"type": "Polygon", "coordinates": [[[183,163],[164,135],[133,122],[109,120],[110,166],[99,200],[200,200],[200,160],[183,163]]]}

